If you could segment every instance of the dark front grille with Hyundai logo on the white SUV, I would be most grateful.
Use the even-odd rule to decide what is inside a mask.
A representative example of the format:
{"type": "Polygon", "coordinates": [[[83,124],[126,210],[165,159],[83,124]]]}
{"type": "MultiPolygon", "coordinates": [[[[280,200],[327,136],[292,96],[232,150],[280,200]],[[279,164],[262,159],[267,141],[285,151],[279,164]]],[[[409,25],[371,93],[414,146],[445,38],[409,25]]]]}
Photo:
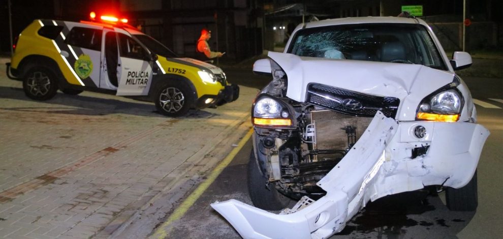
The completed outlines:
{"type": "Polygon", "coordinates": [[[322,84],[307,86],[306,102],[363,117],[373,117],[378,110],[381,110],[384,115],[392,118],[396,116],[400,104],[398,98],[371,96],[322,84]]]}

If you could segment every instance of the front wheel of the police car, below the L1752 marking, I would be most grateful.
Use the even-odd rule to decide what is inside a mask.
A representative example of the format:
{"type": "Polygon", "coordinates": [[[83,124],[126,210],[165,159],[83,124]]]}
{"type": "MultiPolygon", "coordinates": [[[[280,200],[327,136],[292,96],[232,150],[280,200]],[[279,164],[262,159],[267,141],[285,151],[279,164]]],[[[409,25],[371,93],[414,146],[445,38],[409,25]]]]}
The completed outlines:
{"type": "Polygon", "coordinates": [[[193,97],[185,84],[166,82],[158,88],[155,94],[155,107],[160,113],[177,117],[185,115],[190,108],[193,97]]]}

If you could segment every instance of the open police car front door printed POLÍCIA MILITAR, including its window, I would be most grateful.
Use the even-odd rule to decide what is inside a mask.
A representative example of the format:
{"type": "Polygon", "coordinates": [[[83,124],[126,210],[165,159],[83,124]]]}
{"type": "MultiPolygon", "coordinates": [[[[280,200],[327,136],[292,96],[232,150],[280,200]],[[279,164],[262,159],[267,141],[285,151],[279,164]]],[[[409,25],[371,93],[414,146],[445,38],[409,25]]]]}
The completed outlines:
{"type": "Polygon", "coordinates": [[[152,82],[152,62],[140,43],[117,31],[119,48],[117,96],[146,96],[152,82]]]}

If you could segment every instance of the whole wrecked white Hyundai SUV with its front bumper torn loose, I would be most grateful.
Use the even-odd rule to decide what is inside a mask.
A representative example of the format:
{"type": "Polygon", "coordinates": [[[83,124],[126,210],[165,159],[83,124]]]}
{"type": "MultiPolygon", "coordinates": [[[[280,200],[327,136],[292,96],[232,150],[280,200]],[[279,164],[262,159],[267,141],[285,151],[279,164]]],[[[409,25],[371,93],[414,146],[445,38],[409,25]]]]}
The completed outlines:
{"type": "Polygon", "coordinates": [[[268,56],[254,65],[273,78],[252,108],[258,208],[212,204],[241,236],[326,238],[369,200],[430,185],[451,210],[476,210],[489,131],[454,73],[468,53],[449,60],[423,20],[362,17],[301,24],[268,56]]]}

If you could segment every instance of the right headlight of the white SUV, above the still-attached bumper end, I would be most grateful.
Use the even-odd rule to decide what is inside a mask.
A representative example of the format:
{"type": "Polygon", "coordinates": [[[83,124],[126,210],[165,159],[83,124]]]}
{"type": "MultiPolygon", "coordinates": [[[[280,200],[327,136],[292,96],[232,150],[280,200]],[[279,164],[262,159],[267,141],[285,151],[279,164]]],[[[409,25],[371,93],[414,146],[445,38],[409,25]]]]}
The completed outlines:
{"type": "Polygon", "coordinates": [[[456,88],[443,88],[426,97],[418,107],[417,119],[456,122],[463,107],[463,97],[456,88]]]}

